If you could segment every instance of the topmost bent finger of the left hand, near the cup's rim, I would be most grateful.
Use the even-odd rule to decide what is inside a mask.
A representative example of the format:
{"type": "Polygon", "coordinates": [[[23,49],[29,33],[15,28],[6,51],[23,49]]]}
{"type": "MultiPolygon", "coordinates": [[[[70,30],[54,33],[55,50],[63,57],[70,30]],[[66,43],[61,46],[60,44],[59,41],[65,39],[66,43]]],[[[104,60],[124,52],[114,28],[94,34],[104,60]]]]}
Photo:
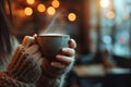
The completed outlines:
{"type": "Polygon", "coordinates": [[[34,37],[25,36],[23,41],[22,41],[22,46],[26,49],[27,47],[29,47],[34,42],[35,42],[35,38],[34,37]]]}

